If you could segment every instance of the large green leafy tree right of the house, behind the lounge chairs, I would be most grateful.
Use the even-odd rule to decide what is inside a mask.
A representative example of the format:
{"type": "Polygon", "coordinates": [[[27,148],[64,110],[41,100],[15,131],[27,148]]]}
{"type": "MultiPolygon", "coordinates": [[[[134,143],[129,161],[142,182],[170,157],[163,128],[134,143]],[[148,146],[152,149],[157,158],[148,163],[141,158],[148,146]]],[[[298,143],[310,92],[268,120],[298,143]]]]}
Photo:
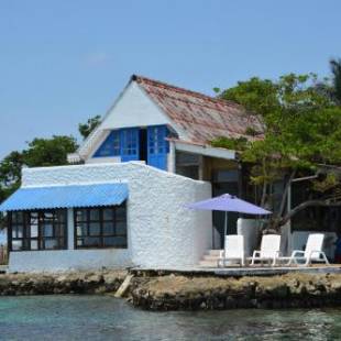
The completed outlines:
{"type": "MultiPolygon", "coordinates": [[[[322,172],[323,165],[341,165],[341,109],[318,91],[316,84],[314,74],[289,74],[277,81],[252,78],[220,94],[224,99],[243,105],[250,112],[257,112],[264,120],[263,139],[251,139],[243,144],[237,141],[235,145],[241,146],[242,161],[251,167],[251,182],[262,188],[260,204],[271,201],[276,182],[284,183],[280,205],[273,219],[276,229],[308,206],[330,205],[316,198],[320,198],[320,193],[330,195],[340,184],[331,174],[316,179],[311,185],[312,190],[319,189],[316,198],[286,212],[293,177],[322,172]]],[[[227,147],[226,141],[221,141],[223,139],[217,139],[212,143],[227,147]]]]}

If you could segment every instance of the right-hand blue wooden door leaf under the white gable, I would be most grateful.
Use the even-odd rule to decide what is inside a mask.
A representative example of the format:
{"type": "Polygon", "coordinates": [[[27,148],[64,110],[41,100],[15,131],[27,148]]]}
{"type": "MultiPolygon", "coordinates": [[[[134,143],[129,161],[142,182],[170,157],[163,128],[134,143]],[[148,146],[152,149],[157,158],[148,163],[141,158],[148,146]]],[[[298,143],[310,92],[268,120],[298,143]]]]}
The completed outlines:
{"type": "Polygon", "coordinates": [[[147,129],[147,164],[150,166],[167,169],[167,154],[169,143],[167,138],[166,125],[148,127],[147,129]]]}

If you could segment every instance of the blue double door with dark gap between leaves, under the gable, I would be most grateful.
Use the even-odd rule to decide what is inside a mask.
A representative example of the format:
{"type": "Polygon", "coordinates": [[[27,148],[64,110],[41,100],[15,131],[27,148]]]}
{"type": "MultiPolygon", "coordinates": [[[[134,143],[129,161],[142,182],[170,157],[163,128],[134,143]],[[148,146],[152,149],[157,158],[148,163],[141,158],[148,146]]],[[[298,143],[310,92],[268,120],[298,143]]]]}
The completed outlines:
{"type": "Polygon", "coordinates": [[[121,161],[145,161],[150,166],[167,169],[169,151],[167,127],[129,128],[120,131],[121,161]]]}

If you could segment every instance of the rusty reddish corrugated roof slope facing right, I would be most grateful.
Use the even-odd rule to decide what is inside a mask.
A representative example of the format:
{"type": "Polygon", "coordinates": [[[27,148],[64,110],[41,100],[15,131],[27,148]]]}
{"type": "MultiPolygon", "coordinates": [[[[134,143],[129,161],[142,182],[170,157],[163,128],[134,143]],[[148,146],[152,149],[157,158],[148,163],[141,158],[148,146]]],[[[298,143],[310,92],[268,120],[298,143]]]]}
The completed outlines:
{"type": "Polygon", "coordinates": [[[219,136],[250,140],[253,138],[245,133],[248,128],[261,134],[264,131],[258,116],[234,102],[141,76],[134,75],[132,80],[144,89],[193,143],[207,144],[219,136]]]}

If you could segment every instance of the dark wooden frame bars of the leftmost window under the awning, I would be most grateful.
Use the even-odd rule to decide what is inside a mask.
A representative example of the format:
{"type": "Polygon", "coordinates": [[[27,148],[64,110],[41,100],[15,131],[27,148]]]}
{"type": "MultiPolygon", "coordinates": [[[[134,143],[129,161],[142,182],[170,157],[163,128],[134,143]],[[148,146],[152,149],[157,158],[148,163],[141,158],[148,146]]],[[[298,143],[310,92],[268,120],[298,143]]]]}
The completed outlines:
{"type": "Polygon", "coordinates": [[[48,209],[48,210],[25,210],[25,211],[13,211],[8,213],[8,243],[9,243],[9,251],[10,252],[21,252],[21,251],[58,251],[58,250],[66,250],[67,249],[67,210],[66,209],[48,209]],[[22,215],[22,222],[18,223],[18,220],[13,222],[13,216],[21,213],[22,215]],[[37,215],[37,235],[31,237],[31,218],[32,215],[37,215]],[[45,215],[52,213],[52,237],[44,235],[44,226],[47,221],[45,215]],[[59,221],[56,219],[57,215],[64,215],[64,221],[59,221]],[[22,227],[22,237],[13,238],[13,229],[18,230],[16,228],[22,227]],[[57,233],[57,231],[63,230],[63,234],[57,233]],[[57,248],[54,249],[46,249],[46,241],[48,240],[57,240],[57,248]],[[21,249],[13,250],[13,242],[20,241],[21,249]],[[31,242],[36,241],[37,248],[31,249],[31,242]]]}

